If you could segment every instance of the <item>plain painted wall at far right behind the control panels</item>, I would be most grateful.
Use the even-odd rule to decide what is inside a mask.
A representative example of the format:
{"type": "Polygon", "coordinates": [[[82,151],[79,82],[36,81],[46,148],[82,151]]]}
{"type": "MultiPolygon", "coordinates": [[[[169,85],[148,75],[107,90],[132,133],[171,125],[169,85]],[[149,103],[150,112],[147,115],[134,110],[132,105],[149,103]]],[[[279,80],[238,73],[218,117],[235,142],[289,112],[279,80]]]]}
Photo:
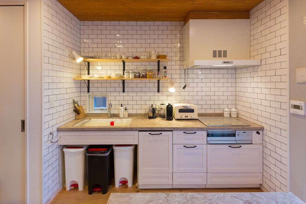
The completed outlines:
{"type": "MultiPolygon", "coordinates": [[[[296,83],[296,68],[306,67],[306,1],[289,1],[290,99],[306,101],[306,84],[296,83]]],[[[290,191],[306,200],[306,117],[290,113],[290,191]]]]}

